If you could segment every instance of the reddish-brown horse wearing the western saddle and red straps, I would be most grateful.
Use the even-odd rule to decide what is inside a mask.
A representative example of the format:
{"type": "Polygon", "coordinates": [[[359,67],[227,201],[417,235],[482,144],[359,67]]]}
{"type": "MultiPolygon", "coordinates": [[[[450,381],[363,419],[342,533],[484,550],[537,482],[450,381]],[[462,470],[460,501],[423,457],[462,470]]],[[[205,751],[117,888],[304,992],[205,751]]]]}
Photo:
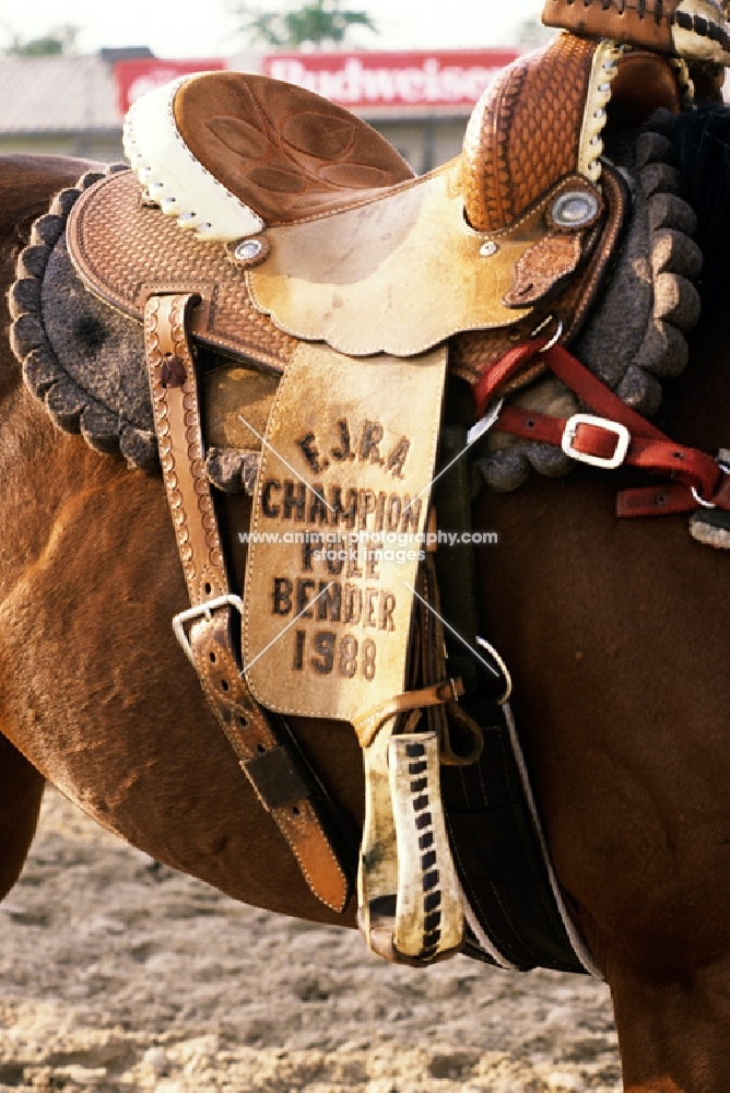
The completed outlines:
{"type": "MultiPolygon", "coordinates": [[[[707,136],[703,124],[685,143],[721,158],[730,126],[707,136]]],[[[694,149],[684,157],[705,209],[711,305],[727,269],[728,175],[694,149]]],[[[4,284],[31,220],[85,166],[3,162],[4,284]]],[[[673,439],[709,453],[729,444],[726,346],[709,306],[661,411],[673,439]]],[[[335,916],[305,886],[175,642],[170,616],[187,598],[161,482],[59,433],[7,344],[0,353],[0,894],[21,871],[47,778],[234,898],[353,926],[352,906],[335,916]]],[[[557,875],[611,987],[626,1090],[725,1093],[730,567],[690,538],[686,517],[616,520],[626,480],[579,469],[483,497],[479,526],[498,534],[481,559],[483,625],[511,668],[557,875]]],[[[354,734],[306,719],[294,729],[362,822],[354,734]]]]}

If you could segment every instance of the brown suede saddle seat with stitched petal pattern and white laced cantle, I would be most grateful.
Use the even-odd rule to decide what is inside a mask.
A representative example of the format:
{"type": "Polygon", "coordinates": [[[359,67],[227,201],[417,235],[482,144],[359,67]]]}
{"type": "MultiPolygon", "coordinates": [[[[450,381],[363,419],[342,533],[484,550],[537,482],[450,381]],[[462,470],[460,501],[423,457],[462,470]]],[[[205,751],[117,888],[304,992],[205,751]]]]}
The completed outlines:
{"type": "Polygon", "coordinates": [[[205,238],[328,215],[414,177],[349,110],[243,72],[201,73],[145,96],[128,115],[125,148],[163,212],[205,238]]]}

